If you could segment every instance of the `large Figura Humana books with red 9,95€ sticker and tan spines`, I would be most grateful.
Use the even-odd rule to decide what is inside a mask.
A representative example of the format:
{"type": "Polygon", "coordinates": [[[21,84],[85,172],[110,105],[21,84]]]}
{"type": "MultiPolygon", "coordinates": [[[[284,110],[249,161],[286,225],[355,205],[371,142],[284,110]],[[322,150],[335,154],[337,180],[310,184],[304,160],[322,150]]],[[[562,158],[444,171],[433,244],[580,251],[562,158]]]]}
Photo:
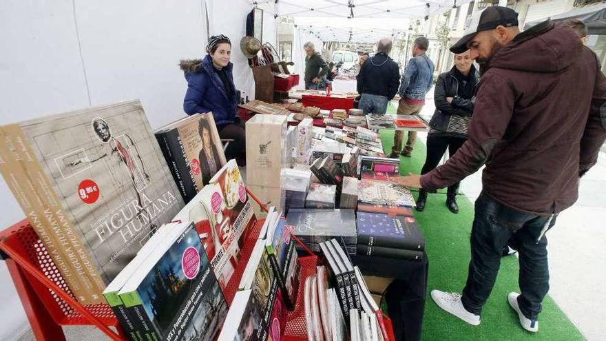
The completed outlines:
{"type": "Polygon", "coordinates": [[[183,207],[139,101],[0,127],[0,170],[76,299],[105,285],[183,207]],[[7,158],[8,157],[8,158],[7,158]]]}

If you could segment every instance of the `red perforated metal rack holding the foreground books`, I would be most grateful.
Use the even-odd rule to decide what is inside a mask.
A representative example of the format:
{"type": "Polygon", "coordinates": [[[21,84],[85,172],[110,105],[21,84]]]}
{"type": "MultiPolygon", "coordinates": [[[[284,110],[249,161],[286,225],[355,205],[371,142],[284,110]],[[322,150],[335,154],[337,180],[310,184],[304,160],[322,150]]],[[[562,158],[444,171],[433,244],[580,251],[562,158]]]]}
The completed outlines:
{"type": "MultiPolygon", "coordinates": [[[[248,189],[247,192],[262,210],[267,211],[267,207],[264,207],[254,194],[248,189]]],[[[258,238],[263,223],[263,219],[257,221],[249,238],[254,240],[258,238]]],[[[293,240],[309,254],[298,259],[299,281],[304,283],[306,278],[316,273],[316,267],[321,265],[322,261],[296,236],[293,236],[293,240]]],[[[244,261],[239,263],[224,291],[228,305],[231,305],[236,295],[254,245],[255,242],[246,242],[242,249],[244,261]]],[[[28,220],[21,220],[0,231],[0,256],[6,262],[36,340],[65,340],[61,326],[67,325],[94,326],[112,340],[128,340],[108,304],[83,306],[75,300],[28,220]]],[[[295,309],[286,313],[284,340],[307,340],[303,300],[302,294],[297,295],[295,309]]],[[[395,340],[391,320],[385,315],[383,319],[389,339],[395,340]]]]}

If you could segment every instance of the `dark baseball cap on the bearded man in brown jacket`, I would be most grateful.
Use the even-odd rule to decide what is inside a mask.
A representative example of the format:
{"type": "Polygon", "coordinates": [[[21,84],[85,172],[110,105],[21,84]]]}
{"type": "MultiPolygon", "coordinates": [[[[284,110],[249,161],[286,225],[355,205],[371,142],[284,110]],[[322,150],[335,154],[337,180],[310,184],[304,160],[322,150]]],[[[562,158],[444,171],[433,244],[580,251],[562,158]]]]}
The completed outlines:
{"type": "Polygon", "coordinates": [[[518,12],[502,6],[485,8],[471,18],[471,23],[463,33],[463,38],[450,46],[450,52],[463,53],[469,50],[467,44],[478,32],[493,30],[503,25],[506,28],[518,25],[518,12]]]}

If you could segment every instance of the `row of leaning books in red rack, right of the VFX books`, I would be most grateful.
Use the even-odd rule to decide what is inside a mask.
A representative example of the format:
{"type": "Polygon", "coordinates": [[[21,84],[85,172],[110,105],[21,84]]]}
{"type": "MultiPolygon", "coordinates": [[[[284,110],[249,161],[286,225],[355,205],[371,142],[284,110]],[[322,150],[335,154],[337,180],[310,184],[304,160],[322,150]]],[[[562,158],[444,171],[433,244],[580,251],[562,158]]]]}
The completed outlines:
{"type": "Polygon", "coordinates": [[[298,291],[297,254],[284,218],[271,207],[218,340],[280,340],[298,291]]]}

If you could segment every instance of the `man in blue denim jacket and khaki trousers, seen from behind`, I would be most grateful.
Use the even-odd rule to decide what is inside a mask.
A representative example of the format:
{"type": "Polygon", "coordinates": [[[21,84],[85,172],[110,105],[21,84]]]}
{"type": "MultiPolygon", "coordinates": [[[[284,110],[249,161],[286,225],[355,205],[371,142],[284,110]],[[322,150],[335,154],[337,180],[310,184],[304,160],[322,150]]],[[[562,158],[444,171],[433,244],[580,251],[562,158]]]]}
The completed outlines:
{"type": "MultiPolygon", "coordinates": [[[[429,48],[429,41],[425,37],[415,39],[415,46],[412,48],[414,58],[408,61],[406,70],[402,74],[398,94],[400,101],[397,114],[399,115],[418,115],[425,105],[425,95],[433,85],[433,72],[435,65],[426,56],[425,52],[429,48]]],[[[404,132],[396,130],[393,136],[393,148],[390,158],[398,158],[401,153],[403,156],[412,156],[412,147],[417,141],[417,132],[408,132],[408,141],[406,148],[402,150],[402,140],[404,132]]]]}

